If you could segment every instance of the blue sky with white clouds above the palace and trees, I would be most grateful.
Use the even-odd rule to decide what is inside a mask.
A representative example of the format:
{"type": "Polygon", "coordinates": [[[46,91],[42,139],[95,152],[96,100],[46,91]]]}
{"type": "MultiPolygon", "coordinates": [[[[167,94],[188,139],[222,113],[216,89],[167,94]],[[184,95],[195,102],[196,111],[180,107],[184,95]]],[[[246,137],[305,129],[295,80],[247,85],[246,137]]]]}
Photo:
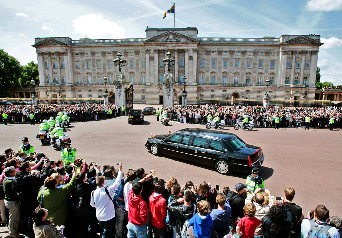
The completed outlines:
{"type": "MultiPolygon", "coordinates": [[[[24,65],[37,62],[35,37],[144,38],[146,26],[173,27],[174,1],[0,0],[0,48],[24,65]],[[108,30],[110,29],[110,30],[108,30]]],[[[321,35],[321,81],[342,84],[342,0],[187,0],[175,2],[176,27],[198,37],[321,35]]]]}

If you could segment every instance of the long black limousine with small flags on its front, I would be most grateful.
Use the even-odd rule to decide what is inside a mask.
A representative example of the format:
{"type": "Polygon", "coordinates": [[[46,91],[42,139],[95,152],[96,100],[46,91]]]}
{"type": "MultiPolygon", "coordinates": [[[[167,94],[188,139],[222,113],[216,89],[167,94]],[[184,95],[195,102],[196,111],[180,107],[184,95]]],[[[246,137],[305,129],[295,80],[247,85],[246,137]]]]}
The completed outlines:
{"type": "Polygon", "coordinates": [[[146,140],[145,147],[154,155],[165,154],[213,166],[221,174],[249,173],[264,160],[260,147],[246,144],[235,134],[199,128],[156,135],[146,140]]]}

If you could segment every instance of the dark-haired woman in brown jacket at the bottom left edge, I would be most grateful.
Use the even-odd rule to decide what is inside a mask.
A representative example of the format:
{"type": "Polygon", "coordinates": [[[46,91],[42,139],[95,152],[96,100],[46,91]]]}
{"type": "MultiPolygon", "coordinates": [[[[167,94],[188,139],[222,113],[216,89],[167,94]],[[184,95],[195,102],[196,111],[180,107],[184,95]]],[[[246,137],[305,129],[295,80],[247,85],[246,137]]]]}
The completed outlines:
{"type": "MultiPolygon", "coordinates": [[[[52,220],[47,219],[48,209],[40,208],[32,212],[31,217],[34,221],[33,229],[36,238],[62,238],[63,233],[61,229],[56,229],[52,220]]],[[[63,228],[63,226],[61,227],[63,228]]]]}

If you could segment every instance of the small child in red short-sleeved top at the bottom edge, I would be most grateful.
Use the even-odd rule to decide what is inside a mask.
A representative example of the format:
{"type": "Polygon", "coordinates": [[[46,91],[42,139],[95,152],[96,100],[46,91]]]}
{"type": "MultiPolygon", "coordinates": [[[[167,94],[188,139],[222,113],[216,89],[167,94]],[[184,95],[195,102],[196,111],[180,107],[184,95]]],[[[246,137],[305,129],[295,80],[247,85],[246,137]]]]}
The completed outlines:
{"type": "Polygon", "coordinates": [[[236,226],[236,233],[241,238],[254,238],[254,232],[261,221],[255,217],[257,208],[253,203],[247,203],[244,206],[245,217],[241,218],[236,226]]]}

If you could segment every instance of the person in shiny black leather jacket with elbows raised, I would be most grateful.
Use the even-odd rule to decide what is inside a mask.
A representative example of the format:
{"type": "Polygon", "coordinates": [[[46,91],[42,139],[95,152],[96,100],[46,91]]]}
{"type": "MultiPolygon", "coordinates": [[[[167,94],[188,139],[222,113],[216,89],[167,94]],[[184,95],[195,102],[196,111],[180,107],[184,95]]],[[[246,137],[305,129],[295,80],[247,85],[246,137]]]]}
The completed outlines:
{"type": "Polygon", "coordinates": [[[167,204],[166,209],[177,216],[176,221],[176,237],[181,238],[181,232],[182,227],[186,220],[193,217],[193,215],[196,213],[196,205],[191,203],[191,200],[193,198],[193,192],[190,190],[186,190],[184,193],[183,198],[179,198],[177,200],[170,201],[169,204],[167,204]],[[184,204],[178,205],[177,202],[184,201],[184,204]]]}

